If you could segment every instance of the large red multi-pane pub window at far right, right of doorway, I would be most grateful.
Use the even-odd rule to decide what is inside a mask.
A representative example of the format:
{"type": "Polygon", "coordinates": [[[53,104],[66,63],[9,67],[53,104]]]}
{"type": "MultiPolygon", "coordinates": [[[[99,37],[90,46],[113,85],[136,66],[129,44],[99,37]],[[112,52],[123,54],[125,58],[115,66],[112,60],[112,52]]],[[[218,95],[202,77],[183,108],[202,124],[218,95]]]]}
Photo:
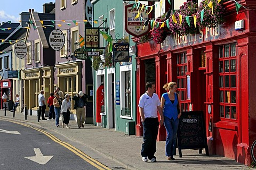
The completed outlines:
{"type": "Polygon", "coordinates": [[[219,46],[220,117],[237,119],[237,56],[236,43],[219,46]]]}

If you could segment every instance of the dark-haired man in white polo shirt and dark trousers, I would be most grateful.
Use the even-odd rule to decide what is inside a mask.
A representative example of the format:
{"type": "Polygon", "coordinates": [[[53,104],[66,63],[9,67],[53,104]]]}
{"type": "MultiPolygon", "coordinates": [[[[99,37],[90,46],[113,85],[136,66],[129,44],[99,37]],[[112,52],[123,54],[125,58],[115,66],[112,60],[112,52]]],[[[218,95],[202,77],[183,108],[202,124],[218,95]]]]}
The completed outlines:
{"type": "Polygon", "coordinates": [[[155,94],[156,85],[153,82],[146,83],[146,93],[141,95],[139,101],[140,117],[143,124],[143,143],[141,156],[143,162],[156,162],[156,139],[159,124],[162,126],[164,116],[161,109],[161,103],[157,94],[155,94]],[[157,111],[160,114],[160,122],[158,122],[157,111]]]}

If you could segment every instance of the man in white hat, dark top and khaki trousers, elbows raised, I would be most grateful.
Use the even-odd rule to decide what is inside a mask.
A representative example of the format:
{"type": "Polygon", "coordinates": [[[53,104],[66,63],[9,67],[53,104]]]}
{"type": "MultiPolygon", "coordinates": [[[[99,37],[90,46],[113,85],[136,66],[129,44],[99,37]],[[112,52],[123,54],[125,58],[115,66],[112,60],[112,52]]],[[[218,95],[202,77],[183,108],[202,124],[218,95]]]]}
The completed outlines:
{"type": "Polygon", "coordinates": [[[78,129],[81,128],[81,126],[84,128],[84,121],[85,121],[85,106],[88,106],[86,98],[88,96],[83,93],[83,91],[79,91],[78,94],[76,94],[72,100],[75,100],[75,109],[76,109],[76,119],[77,119],[77,125],[78,129]]]}

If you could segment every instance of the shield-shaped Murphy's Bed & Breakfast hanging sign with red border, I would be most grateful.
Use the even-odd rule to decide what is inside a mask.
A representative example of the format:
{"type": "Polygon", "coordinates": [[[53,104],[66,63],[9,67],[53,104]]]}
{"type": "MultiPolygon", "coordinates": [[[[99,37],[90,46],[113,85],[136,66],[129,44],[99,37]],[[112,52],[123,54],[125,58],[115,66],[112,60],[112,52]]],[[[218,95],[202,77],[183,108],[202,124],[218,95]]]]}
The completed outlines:
{"type": "Polygon", "coordinates": [[[146,33],[150,31],[149,23],[143,29],[144,22],[149,18],[148,9],[146,10],[146,7],[141,8],[142,5],[138,8],[133,7],[133,4],[125,6],[125,30],[130,33],[130,35],[137,38],[146,35],[146,33]],[[136,18],[138,13],[140,13],[140,16],[143,18],[142,20],[140,16],[136,18]]]}

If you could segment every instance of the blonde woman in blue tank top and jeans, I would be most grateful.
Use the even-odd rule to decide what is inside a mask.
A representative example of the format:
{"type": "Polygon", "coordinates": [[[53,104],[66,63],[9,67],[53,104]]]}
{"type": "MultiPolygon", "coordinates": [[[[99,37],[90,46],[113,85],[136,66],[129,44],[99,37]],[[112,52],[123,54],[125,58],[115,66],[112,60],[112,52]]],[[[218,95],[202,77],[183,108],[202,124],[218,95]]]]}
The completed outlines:
{"type": "Polygon", "coordinates": [[[166,83],[163,87],[168,90],[161,98],[161,108],[164,114],[164,126],[167,131],[165,155],[168,160],[175,160],[173,158],[174,150],[176,149],[176,134],[179,125],[179,118],[177,105],[180,103],[179,95],[176,93],[177,83],[166,83]]]}

